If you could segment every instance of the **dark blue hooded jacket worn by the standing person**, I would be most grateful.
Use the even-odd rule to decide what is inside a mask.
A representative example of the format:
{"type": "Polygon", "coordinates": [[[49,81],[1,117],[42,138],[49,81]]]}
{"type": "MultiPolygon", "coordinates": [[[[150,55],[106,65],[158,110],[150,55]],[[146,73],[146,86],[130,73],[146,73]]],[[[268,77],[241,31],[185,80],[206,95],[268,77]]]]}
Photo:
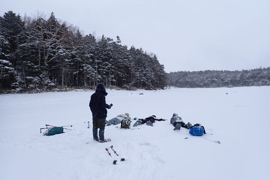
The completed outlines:
{"type": "Polygon", "coordinates": [[[98,83],[96,92],[91,96],[89,103],[93,118],[100,119],[107,117],[107,109],[110,109],[111,107],[106,104],[105,96],[107,96],[107,93],[104,84],[98,83]]]}

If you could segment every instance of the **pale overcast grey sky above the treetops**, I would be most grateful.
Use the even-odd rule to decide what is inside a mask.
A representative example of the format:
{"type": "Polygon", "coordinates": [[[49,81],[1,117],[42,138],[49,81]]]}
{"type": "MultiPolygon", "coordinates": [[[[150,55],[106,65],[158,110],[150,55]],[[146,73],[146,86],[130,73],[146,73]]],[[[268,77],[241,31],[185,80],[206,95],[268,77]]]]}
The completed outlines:
{"type": "Polygon", "coordinates": [[[1,0],[0,15],[37,11],[157,55],[166,72],[270,67],[269,0],[1,0]]]}

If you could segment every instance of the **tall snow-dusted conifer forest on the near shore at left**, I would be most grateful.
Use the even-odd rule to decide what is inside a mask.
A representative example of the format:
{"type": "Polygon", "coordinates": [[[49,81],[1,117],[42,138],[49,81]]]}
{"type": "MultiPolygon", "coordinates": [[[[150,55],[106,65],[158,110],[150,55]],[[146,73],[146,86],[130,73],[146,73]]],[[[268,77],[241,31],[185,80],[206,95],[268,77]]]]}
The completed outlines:
{"type": "Polygon", "coordinates": [[[164,88],[157,56],[121,44],[117,36],[96,38],[61,22],[16,15],[0,17],[0,91],[35,92],[55,87],[164,88]]]}

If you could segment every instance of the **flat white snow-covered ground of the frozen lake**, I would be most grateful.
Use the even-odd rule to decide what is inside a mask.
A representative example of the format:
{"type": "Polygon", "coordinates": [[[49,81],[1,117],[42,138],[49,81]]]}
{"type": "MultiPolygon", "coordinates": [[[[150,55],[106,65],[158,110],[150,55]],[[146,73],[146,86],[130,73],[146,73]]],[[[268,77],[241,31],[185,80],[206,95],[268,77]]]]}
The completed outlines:
{"type": "Polygon", "coordinates": [[[107,92],[107,104],[114,104],[107,120],[125,112],[132,118],[168,120],[133,130],[112,125],[105,128],[105,138],[112,142],[98,143],[92,140],[92,127],[87,128],[88,121],[92,125],[88,104],[93,91],[0,95],[1,179],[269,177],[270,86],[107,92]],[[202,124],[207,134],[174,131],[173,113],[185,123],[202,124]],[[73,127],[43,136],[39,131],[45,124],[73,127]],[[112,150],[112,157],[107,154],[111,145],[125,162],[112,150]]]}

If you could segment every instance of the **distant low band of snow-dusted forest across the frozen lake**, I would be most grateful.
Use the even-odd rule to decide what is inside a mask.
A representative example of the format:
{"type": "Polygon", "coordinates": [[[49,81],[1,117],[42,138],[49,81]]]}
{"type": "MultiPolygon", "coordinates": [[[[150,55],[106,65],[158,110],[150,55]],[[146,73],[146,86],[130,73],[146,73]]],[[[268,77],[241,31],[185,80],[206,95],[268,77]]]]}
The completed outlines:
{"type": "Polygon", "coordinates": [[[233,87],[270,85],[270,68],[242,71],[171,72],[168,84],[177,87],[233,87]]]}

